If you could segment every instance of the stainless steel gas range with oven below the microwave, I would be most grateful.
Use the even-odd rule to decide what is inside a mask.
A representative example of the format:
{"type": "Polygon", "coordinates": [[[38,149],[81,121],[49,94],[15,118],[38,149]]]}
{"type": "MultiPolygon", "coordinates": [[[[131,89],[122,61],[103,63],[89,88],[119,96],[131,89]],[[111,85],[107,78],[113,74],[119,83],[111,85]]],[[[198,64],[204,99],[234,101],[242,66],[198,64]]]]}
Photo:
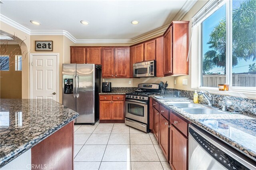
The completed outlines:
{"type": "Polygon", "coordinates": [[[125,124],[149,132],[149,97],[158,93],[159,84],[138,84],[136,92],[127,93],[125,98],[125,124]]]}

